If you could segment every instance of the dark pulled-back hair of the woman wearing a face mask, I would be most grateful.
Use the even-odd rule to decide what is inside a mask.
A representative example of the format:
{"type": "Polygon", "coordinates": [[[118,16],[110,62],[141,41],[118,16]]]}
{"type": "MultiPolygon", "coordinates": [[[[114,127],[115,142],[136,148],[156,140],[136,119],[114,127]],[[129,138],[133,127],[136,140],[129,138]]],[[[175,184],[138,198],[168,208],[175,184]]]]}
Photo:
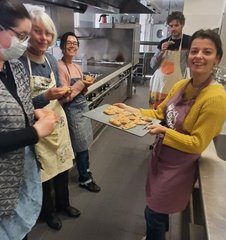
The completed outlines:
{"type": "Polygon", "coordinates": [[[16,27],[17,21],[25,18],[31,19],[20,0],[0,0],[0,25],[5,29],[16,27]]]}

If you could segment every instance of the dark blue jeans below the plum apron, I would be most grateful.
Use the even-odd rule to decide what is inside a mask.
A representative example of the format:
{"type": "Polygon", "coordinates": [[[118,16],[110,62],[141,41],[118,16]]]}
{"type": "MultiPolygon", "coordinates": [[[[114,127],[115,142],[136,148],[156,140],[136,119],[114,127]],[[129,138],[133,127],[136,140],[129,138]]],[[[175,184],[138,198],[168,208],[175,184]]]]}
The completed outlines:
{"type": "Polygon", "coordinates": [[[146,240],[165,240],[165,233],[169,229],[169,215],[157,213],[146,206],[146,240]]]}

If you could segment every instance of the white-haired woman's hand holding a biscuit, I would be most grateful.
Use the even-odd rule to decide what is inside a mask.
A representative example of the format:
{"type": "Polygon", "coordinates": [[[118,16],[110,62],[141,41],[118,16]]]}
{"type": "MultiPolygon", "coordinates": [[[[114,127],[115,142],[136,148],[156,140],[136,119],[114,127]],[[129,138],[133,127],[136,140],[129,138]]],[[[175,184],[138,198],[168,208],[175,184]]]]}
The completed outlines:
{"type": "Polygon", "coordinates": [[[44,95],[47,100],[65,98],[71,94],[71,87],[53,87],[48,89],[44,95]]]}

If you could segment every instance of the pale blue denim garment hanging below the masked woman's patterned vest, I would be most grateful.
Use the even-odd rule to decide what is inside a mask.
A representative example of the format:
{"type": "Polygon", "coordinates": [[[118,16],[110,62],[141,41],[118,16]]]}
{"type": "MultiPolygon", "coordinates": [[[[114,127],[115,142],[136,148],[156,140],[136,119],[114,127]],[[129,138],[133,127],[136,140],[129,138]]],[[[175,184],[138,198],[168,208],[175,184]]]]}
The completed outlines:
{"type": "Polygon", "coordinates": [[[42,205],[42,184],[34,153],[25,147],[24,174],[15,215],[0,220],[1,240],[21,240],[31,231],[42,205]],[[26,211],[24,211],[26,208],[26,211]]]}

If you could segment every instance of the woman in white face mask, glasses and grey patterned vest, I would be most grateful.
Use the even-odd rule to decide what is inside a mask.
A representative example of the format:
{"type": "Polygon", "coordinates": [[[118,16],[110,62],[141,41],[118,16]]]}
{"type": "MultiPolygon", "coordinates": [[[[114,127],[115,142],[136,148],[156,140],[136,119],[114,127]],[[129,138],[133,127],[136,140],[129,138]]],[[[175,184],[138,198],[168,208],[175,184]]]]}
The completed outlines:
{"type": "Polygon", "coordinates": [[[38,218],[42,186],[29,145],[49,135],[58,121],[52,111],[34,112],[26,71],[15,60],[26,49],[30,30],[30,16],[21,2],[0,1],[1,240],[26,239],[38,218]]]}

